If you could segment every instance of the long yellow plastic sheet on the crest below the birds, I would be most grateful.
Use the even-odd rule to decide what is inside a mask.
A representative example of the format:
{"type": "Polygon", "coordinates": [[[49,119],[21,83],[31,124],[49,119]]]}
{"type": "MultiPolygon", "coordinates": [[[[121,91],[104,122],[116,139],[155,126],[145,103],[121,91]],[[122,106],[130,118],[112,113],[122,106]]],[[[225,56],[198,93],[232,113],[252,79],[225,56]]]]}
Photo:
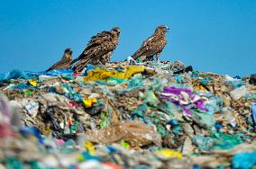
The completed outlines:
{"type": "Polygon", "coordinates": [[[134,74],[142,73],[144,72],[143,66],[129,66],[126,67],[126,70],[124,72],[118,72],[116,70],[106,70],[101,68],[96,68],[88,73],[87,76],[85,76],[84,81],[105,81],[107,78],[114,77],[114,78],[120,78],[120,79],[128,79],[134,74]]]}

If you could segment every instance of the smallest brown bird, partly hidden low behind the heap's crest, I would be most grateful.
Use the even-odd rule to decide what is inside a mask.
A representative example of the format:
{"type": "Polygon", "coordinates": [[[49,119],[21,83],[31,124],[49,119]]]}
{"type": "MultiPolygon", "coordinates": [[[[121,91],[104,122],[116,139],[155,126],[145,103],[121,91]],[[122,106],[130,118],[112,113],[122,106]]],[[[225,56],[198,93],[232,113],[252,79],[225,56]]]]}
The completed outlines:
{"type": "Polygon", "coordinates": [[[72,62],[72,49],[65,49],[63,57],[46,71],[53,69],[69,69],[72,62]]]}

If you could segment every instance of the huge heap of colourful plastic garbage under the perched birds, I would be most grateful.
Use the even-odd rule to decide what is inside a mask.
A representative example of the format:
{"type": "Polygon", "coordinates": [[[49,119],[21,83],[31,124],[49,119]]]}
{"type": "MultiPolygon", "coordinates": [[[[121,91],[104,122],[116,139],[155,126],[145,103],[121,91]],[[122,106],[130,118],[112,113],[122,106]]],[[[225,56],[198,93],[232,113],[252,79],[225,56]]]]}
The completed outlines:
{"type": "Polygon", "coordinates": [[[255,75],[153,61],[0,79],[0,168],[255,168],[255,75]]]}

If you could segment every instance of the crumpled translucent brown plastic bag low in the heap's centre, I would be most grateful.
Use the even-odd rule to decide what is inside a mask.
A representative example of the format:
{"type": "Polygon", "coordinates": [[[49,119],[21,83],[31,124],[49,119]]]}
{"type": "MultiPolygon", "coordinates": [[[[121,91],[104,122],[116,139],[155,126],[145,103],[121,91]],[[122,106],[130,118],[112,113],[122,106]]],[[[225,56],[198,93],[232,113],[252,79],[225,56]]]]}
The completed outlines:
{"type": "Polygon", "coordinates": [[[132,147],[142,147],[151,143],[160,146],[160,134],[152,127],[139,122],[118,122],[105,129],[89,130],[86,139],[91,142],[112,144],[122,139],[132,147]]]}

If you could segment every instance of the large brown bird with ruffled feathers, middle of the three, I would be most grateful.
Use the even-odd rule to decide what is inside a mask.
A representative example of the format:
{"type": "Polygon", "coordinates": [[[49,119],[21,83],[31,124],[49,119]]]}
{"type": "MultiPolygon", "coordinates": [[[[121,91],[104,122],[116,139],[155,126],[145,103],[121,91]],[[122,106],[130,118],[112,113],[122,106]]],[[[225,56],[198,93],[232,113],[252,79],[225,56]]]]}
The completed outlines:
{"type": "Polygon", "coordinates": [[[72,64],[79,60],[73,67],[73,70],[79,73],[88,63],[98,64],[108,61],[113,50],[118,45],[120,32],[120,28],[114,27],[110,31],[102,31],[97,33],[96,36],[93,36],[83,53],[73,60],[72,64]]]}

